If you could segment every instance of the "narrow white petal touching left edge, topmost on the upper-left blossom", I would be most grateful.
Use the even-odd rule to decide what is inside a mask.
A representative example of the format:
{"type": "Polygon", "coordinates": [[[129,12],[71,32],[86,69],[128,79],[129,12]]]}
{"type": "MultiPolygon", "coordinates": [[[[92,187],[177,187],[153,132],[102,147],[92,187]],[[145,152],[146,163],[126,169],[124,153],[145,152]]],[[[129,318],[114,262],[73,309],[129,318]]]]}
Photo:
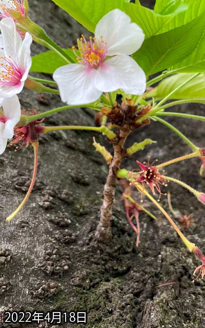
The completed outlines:
{"type": "Polygon", "coordinates": [[[3,18],[0,22],[2,31],[4,51],[6,56],[11,56],[18,63],[18,51],[22,44],[22,38],[16,31],[16,26],[12,18],[3,18]]]}

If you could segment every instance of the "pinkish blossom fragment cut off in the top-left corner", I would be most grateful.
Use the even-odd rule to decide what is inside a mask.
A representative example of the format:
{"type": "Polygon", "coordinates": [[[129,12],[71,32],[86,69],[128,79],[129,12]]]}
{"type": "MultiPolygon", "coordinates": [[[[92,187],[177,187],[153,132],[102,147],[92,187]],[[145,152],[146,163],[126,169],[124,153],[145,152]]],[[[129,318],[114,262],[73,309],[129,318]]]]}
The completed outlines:
{"type": "Polygon", "coordinates": [[[12,14],[9,12],[9,10],[15,10],[22,14],[22,16],[25,15],[25,9],[24,9],[24,0],[0,0],[0,17],[11,17],[12,14]],[[2,4],[1,4],[2,3],[2,4]]]}

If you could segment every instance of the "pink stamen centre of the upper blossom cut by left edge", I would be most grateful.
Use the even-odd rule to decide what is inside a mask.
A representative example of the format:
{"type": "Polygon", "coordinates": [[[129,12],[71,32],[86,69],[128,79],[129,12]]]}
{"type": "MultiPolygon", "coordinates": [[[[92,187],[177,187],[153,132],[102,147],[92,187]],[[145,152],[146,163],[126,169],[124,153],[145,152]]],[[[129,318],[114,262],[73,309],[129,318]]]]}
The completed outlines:
{"type": "Polygon", "coordinates": [[[16,86],[20,83],[24,71],[11,57],[0,57],[0,86],[16,86]]]}

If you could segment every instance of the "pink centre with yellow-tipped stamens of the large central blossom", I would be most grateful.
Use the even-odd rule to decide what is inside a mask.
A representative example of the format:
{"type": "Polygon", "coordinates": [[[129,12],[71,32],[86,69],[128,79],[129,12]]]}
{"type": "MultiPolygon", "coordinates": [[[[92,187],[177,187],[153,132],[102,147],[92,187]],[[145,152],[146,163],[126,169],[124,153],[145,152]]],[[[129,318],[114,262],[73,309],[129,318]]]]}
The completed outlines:
{"type": "Polygon", "coordinates": [[[90,41],[87,42],[84,35],[77,40],[79,55],[75,52],[75,47],[72,47],[77,57],[78,63],[88,67],[96,68],[103,63],[107,53],[107,43],[104,42],[103,36],[100,40],[90,36],[90,41]]]}

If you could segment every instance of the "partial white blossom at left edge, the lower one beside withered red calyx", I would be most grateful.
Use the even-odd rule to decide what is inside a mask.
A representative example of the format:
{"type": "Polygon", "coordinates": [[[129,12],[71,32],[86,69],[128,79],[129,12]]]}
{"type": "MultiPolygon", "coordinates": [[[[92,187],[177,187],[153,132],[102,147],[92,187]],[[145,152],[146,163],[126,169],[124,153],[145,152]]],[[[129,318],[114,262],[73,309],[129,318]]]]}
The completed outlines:
{"type": "Polygon", "coordinates": [[[7,140],[13,137],[14,127],[20,120],[20,103],[14,95],[10,98],[0,98],[0,155],[7,146],[7,140]]]}

